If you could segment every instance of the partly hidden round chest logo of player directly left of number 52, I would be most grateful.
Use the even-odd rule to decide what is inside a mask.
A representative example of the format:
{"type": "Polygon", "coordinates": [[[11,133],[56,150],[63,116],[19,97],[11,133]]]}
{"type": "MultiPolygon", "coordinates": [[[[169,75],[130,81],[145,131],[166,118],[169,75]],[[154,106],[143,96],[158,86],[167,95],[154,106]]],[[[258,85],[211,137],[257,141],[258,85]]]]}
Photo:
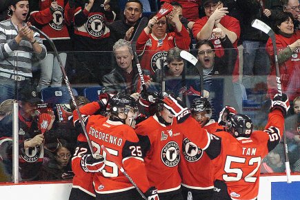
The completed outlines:
{"type": "Polygon", "coordinates": [[[202,157],[203,150],[186,138],[182,143],[182,154],[186,161],[195,162],[202,157]]]}

